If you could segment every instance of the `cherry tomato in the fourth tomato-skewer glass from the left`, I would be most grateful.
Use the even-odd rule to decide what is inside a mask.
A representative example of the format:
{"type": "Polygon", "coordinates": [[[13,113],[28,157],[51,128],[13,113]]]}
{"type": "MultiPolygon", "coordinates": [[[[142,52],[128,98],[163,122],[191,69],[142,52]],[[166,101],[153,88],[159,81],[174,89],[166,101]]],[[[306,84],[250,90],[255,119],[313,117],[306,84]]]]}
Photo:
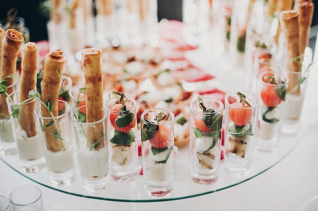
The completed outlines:
{"type": "Polygon", "coordinates": [[[233,107],[230,108],[229,113],[233,123],[238,126],[246,125],[252,117],[252,110],[245,109],[249,108],[249,106],[246,103],[242,105],[241,102],[235,102],[232,103],[232,106],[233,107]]]}

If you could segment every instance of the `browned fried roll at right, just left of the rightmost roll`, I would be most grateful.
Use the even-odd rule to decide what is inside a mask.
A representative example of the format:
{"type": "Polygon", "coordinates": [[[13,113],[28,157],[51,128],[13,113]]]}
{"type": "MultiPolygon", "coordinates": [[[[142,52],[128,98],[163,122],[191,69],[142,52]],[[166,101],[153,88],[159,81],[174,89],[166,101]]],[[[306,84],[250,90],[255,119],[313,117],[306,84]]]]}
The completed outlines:
{"type": "MultiPolygon", "coordinates": [[[[279,14],[279,21],[281,29],[285,34],[285,46],[287,48],[286,55],[286,68],[289,71],[298,72],[301,71],[301,62],[299,61],[299,14],[295,10],[285,10],[279,14]]],[[[298,78],[293,78],[289,75],[288,91],[297,86],[298,78]]],[[[299,94],[299,89],[295,92],[299,94]]]]}

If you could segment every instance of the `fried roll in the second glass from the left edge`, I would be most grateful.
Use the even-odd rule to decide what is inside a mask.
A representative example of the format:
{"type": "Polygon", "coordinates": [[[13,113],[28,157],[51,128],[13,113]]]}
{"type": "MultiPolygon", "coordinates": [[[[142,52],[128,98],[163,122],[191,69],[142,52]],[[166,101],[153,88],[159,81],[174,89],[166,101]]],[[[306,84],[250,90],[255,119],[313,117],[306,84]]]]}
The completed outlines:
{"type": "MultiPolygon", "coordinates": [[[[39,62],[38,46],[29,42],[22,46],[22,62],[20,76],[20,103],[28,99],[28,93],[31,90],[37,90],[37,72],[39,62]]],[[[21,105],[19,109],[19,117],[22,129],[28,137],[37,135],[36,119],[34,110],[36,108],[36,100],[21,105]]]]}

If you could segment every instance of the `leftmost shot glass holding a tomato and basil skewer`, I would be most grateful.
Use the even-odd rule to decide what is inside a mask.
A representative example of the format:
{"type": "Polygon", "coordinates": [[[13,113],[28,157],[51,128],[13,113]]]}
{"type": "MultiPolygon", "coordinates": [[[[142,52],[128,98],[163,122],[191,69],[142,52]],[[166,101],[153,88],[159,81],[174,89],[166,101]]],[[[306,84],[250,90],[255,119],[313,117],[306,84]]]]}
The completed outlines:
{"type": "Polygon", "coordinates": [[[113,179],[139,173],[137,106],[132,98],[119,102],[117,97],[106,100],[109,171],[113,179]]]}

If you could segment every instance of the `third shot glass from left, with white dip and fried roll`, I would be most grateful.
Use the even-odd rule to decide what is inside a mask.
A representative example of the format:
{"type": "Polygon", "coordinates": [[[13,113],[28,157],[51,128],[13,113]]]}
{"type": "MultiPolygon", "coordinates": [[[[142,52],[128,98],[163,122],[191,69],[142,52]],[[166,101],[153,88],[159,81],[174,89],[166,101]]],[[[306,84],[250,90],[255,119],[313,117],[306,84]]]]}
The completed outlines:
{"type": "Polygon", "coordinates": [[[71,106],[62,100],[58,100],[58,103],[60,104],[58,116],[43,116],[40,105],[36,107],[35,114],[49,180],[53,186],[66,187],[75,179],[71,106]]]}

